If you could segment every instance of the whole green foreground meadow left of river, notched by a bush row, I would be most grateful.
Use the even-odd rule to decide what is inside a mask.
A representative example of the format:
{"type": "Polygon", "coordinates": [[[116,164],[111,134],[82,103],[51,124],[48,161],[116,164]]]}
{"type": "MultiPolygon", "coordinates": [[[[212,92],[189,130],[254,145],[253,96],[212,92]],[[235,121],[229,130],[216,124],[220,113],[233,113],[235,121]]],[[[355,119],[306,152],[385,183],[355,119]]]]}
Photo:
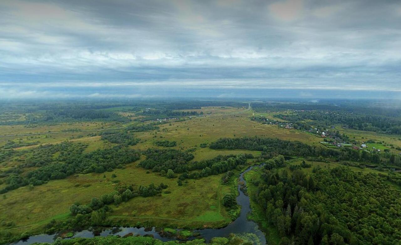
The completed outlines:
{"type": "Polygon", "coordinates": [[[145,169],[132,163],[126,169],[116,169],[103,174],[76,175],[63,180],[54,180],[29,190],[22,187],[0,197],[0,220],[12,220],[15,227],[10,231],[23,233],[38,231],[52,219],[64,219],[69,215],[69,206],[74,201],[89,203],[91,197],[99,197],[114,190],[112,181],[120,183],[168,185],[161,197],[136,197],[118,207],[111,219],[124,220],[131,224],[148,222],[154,225],[171,224],[175,227],[221,227],[231,221],[221,207],[221,193],[230,191],[229,185],[220,185],[221,175],[199,180],[188,180],[178,186],[177,179],[160,177],[157,173],[146,173],[145,169]],[[111,174],[117,175],[111,178],[111,174]],[[199,197],[202,198],[199,198],[199,197]],[[9,207],[12,207],[10,209],[9,207]]]}

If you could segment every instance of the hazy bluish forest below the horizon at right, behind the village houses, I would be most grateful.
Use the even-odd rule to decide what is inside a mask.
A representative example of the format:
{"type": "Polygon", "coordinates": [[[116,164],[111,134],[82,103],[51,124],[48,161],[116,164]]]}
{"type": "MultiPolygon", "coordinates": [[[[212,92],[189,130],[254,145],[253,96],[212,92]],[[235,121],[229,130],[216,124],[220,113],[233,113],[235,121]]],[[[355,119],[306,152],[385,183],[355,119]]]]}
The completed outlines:
{"type": "MultiPolygon", "coordinates": [[[[308,130],[311,126],[319,128],[342,125],[344,128],[377,133],[400,135],[401,110],[343,104],[316,103],[253,103],[257,112],[273,111],[276,118],[292,122],[296,128],[308,130]],[[290,112],[290,113],[288,113],[290,112]]],[[[259,118],[257,118],[259,119],[259,118]]]]}

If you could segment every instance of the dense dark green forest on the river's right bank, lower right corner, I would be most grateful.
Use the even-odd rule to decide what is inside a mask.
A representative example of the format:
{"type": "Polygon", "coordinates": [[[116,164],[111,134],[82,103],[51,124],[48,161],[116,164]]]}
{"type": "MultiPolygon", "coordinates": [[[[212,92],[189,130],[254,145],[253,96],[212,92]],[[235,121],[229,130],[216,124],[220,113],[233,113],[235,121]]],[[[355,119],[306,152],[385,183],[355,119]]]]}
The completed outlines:
{"type": "Polygon", "coordinates": [[[251,198],[275,225],[283,244],[398,244],[401,192],[386,177],[345,167],[266,170],[251,198]]]}

